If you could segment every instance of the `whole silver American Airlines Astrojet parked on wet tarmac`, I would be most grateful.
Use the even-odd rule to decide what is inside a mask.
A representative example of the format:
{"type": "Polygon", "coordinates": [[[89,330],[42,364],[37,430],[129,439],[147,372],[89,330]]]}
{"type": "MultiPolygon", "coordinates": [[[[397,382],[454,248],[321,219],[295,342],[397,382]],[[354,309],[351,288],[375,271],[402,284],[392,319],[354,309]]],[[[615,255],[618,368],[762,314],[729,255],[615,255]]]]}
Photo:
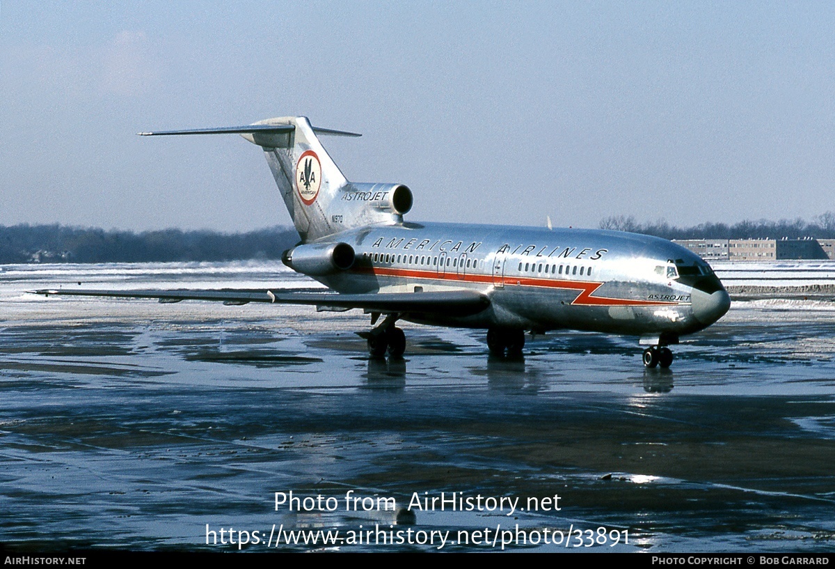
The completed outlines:
{"type": "Polygon", "coordinates": [[[306,117],[138,134],[237,134],[260,146],[301,238],[282,261],[331,290],[35,292],[359,308],[371,315],[373,328],[361,336],[374,358],[402,357],[406,337],[398,320],[486,329],[489,352],[509,358],[521,355],[525,332],[615,333],[639,338],[646,368],[669,368],[669,347],[731,306],[701,257],[658,237],[407,221],[413,197],[406,185],[348,181],[318,138],[359,135],[316,128],[306,117]]]}

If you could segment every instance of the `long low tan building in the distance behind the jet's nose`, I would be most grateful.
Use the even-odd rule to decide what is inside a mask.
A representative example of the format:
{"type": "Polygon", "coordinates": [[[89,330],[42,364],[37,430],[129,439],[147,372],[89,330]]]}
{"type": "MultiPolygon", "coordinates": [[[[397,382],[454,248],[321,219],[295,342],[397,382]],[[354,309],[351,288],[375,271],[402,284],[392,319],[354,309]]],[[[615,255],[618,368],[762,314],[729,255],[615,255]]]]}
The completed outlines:
{"type": "Polygon", "coordinates": [[[676,239],[706,261],[835,259],[835,239],[676,239]],[[826,244],[824,244],[826,243],[826,244]]]}

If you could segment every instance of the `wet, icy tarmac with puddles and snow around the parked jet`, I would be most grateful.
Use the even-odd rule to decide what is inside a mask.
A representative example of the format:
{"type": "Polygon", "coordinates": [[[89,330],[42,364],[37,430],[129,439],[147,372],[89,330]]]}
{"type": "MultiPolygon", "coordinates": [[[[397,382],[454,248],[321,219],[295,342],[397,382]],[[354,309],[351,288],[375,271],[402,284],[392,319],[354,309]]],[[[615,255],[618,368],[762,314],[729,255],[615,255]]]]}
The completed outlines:
{"type": "Polygon", "coordinates": [[[645,372],[634,338],[513,361],[404,323],[406,357],[377,361],[358,311],[24,292],[78,282],[311,286],[277,263],[3,267],[7,549],[835,546],[833,302],[736,302],[645,372]]]}

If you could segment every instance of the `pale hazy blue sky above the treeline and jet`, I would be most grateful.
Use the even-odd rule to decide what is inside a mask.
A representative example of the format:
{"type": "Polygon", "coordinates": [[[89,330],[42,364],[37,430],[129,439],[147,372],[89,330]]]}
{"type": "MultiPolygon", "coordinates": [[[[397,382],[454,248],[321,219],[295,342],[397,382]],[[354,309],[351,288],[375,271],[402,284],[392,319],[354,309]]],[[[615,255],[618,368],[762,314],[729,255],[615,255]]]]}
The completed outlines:
{"type": "Polygon", "coordinates": [[[256,146],[304,114],[409,219],[676,225],[835,210],[832,3],[0,6],[0,224],[290,218],[256,146]]]}

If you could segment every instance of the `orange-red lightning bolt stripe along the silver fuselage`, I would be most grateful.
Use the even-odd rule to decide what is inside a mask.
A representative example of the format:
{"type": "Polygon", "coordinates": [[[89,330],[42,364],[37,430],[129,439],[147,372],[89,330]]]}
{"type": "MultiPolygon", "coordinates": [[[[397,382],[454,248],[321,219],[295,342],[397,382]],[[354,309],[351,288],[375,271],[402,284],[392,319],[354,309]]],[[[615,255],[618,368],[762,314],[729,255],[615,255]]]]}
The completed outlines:
{"type": "MultiPolygon", "coordinates": [[[[354,267],[352,272],[370,274],[376,277],[406,277],[431,281],[474,282],[479,284],[495,284],[493,275],[443,273],[437,271],[422,271],[418,269],[399,269],[392,267],[354,267]]],[[[579,292],[571,301],[572,306],[678,306],[682,302],[665,302],[656,300],[638,300],[630,298],[594,297],[592,294],[605,282],[564,281],[547,278],[505,277],[505,284],[522,287],[561,288],[579,292]]]]}

